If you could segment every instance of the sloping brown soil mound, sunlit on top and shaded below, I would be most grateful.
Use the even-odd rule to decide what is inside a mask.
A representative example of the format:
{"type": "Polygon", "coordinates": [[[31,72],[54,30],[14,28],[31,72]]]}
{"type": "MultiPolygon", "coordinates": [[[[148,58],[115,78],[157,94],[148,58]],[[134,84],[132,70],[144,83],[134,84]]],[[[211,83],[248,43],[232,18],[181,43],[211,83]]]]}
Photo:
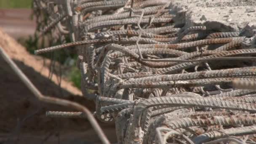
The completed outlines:
{"type": "MultiPolygon", "coordinates": [[[[56,75],[48,79],[50,60],[29,54],[24,47],[0,30],[0,47],[9,54],[33,84],[47,96],[61,97],[94,110],[94,102],[82,97],[81,91],[62,80],[59,87],[56,75]]],[[[90,144],[100,143],[86,119],[50,118],[45,111],[72,111],[65,107],[45,104],[19,80],[0,58],[0,143],[20,144],[90,144]]],[[[100,123],[111,142],[116,142],[113,125],[100,123]]]]}

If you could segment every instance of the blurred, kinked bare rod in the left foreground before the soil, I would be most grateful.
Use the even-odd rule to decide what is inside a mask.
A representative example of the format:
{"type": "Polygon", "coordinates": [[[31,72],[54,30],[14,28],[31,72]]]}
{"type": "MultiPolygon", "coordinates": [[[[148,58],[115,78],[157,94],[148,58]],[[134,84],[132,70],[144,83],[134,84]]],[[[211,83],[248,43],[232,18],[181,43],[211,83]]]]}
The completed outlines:
{"type": "Polygon", "coordinates": [[[98,134],[101,142],[104,144],[110,144],[107,137],[101,130],[99,124],[97,123],[97,121],[95,120],[95,118],[93,117],[91,112],[86,107],[84,107],[81,104],[78,104],[76,102],[68,101],[65,99],[43,96],[40,93],[40,91],[38,91],[38,89],[35,87],[35,85],[33,85],[31,83],[31,81],[27,78],[27,76],[24,75],[24,73],[19,69],[19,67],[17,67],[17,65],[10,59],[10,57],[5,53],[5,51],[3,51],[3,48],[1,48],[1,47],[0,47],[0,54],[5,59],[5,61],[11,66],[13,71],[19,76],[19,78],[22,80],[22,82],[27,86],[27,88],[29,88],[29,90],[37,97],[37,99],[39,99],[40,101],[51,103],[51,104],[57,104],[57,105],[65,106],[65,107],[71,107],[71,108],[77,109],[80,112],[85,113],[88,121],[91,123],[92,127],[98,134]]]}

